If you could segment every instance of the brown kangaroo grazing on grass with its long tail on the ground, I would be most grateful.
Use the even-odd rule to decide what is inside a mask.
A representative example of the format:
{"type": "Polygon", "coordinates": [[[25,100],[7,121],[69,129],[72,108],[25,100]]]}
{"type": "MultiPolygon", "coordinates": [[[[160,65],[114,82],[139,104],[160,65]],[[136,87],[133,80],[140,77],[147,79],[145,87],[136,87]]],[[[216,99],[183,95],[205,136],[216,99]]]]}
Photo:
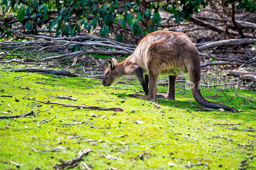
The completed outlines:
{"type": "Polygon", "coordinates": [[[117,63],[115,57],[108,58],[109,67],[105,71],[103,86],[110,86],[125,75],[136,75],[145,95],[129,95],[146,100],[164,98],[175,100],[175,81],[180,73],[188,73],[190,89],[196,102],[211,109],[233,109],[224,104],[209,102],[204,99],[199,89],[201,66],[198,50],[183,32],[155,31],[145,36],[132,55],[117,63]],[[169,76],[167,94],[156,93],[158,75],[169,76]],[[148,88],[149,84],[149,88],[148,88]]]}

